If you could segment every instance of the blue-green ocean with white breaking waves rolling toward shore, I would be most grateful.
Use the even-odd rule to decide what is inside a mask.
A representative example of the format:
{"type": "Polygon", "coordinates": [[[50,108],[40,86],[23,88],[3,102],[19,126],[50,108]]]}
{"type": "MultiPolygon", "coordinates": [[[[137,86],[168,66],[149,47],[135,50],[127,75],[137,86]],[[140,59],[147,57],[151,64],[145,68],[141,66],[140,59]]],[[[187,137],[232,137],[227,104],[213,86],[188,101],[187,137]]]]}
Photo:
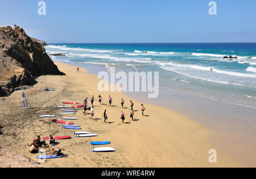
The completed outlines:
{"type": "Polygon", "coordinates": [[[157,71],[160,88],[256,109],[256,43],[51,44],[45,48],[53,61],[101,65],[106,70],[115,67],[116,72],[157,71]]]}

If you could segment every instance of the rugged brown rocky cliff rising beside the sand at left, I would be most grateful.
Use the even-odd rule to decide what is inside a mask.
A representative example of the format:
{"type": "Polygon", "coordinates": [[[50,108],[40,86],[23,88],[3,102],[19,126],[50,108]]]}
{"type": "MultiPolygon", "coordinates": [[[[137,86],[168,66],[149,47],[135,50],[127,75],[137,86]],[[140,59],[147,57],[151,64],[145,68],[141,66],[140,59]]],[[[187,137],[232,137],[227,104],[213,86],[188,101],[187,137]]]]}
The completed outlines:
{"type": "Polygon", "coordinates": [[[10,95],[20,85],[35,84],[42,74],[64,75],[38,40],[16,25],[0,27],[0,96],[10,95]]]}

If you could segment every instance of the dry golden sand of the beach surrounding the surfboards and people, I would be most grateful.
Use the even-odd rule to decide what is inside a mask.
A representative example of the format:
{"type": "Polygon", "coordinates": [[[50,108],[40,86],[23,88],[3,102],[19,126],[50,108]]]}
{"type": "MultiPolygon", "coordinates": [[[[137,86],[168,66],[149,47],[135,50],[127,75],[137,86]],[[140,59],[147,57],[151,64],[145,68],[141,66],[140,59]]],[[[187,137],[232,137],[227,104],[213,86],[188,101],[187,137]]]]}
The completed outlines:
{"type": "MultiPolygon", "coordinates": [[[[40,76],[37,84],[24,90],[28,109],[24,109],[23,90],[15,91],[5,101],[1,101],[0,146],[7,151],[19,153],[36,161],[36,154],[28,152],[30,141],[40,135],[67,136],[71,139],[57,140],[55,148],[61,148],[67,157],[47,160],[43,165],[50,167],[213,167],[213,166],[241,166],[236,161],[217,153],[217,163],[209,163],[209,149],[214,148],[209,141],[210,132],[200,124],[194,122],[175,111],[163,107],[150,105],[147,101],[136,101],[122,92],[99,92],[97,83],[100,79],[94,74],[86,73],[76,66],[55,61],[65,76],[40,76]],[[46,86],[55,91],[43,91],[46,86]],[[98,103],[98,95],[102,96],[102,104],[98,103]],[[79,120],[66,120],[80,125],[81,131],[98,134],[91,138],[76,138],[71,131],[61,128],[61,124],[51,122],[49,118],[40,115],[57,115],[60,113],[56,105],[61,102],[79,102],[83,104],[85,97],[94,95],[94,119],[77,109],[76,114],[65,115],[77,117],[79,120]],[[108,96],[113,98],[112,107],[109,106],[108,96]],[[121,98],[125,101],[122,109],[121,98]],[[134,118],[130,118],[130,100],[134,102],[134,118]],[[141,103],[146,111],[142,116],[141,103]],[[108,121],[104,123],[102,113],[107,110],[108,121]],[[125,123],[120,119],[121,111],[125,113],[125,123]],[[90,141],[110,140],[109,147],[115,152],[90,152],[93,147],[90,141]]],[[[48,141],[47,141],[48,142],[48,141]]],[[[53,147],[46,146],[46,153],[50,154],[53,147]]]]}

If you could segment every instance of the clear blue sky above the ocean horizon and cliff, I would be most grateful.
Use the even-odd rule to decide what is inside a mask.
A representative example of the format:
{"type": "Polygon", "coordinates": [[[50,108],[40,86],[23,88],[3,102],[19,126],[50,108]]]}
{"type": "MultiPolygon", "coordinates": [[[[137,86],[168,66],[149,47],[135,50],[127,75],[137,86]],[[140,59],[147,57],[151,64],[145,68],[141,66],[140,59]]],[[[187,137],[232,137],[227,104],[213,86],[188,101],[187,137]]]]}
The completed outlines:
{"type": "Polygon", "coordinates": [[[256,1],[1,0],[0,26],[14,24],[48,43],[256,42],[256,1]]]}

